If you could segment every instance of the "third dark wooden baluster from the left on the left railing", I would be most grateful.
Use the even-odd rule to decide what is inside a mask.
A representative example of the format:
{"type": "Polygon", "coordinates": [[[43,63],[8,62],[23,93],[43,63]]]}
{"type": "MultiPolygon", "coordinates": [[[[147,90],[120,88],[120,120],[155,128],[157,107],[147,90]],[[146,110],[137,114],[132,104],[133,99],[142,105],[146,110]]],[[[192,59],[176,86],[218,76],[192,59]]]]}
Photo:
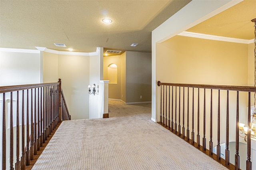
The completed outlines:
{"type": "Polygon", "coordinates": [[[16,112],[16,163],[15,169],[20,169],[20,118],[19,118],[19,91],[17,91],[17,112],[16,112]]]}

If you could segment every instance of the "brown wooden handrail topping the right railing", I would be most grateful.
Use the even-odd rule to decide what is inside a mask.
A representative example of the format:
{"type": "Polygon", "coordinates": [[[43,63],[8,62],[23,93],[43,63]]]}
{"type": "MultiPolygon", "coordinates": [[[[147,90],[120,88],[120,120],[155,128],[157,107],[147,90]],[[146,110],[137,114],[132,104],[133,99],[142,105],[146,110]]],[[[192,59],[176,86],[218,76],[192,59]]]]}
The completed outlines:
{"type": "Polygon", "coordinates": [[[180,84],[180,83],[162,83],[157,82],[157,85],[167,85],[176,87],[193,87],[201,89],[217,89],[217,90],[230,90],[230,91],[246,91],[246,92],[256,92],[256,87],[252,86],[228,86],[228,85],[200,85],[200,84],[180,84]]]}

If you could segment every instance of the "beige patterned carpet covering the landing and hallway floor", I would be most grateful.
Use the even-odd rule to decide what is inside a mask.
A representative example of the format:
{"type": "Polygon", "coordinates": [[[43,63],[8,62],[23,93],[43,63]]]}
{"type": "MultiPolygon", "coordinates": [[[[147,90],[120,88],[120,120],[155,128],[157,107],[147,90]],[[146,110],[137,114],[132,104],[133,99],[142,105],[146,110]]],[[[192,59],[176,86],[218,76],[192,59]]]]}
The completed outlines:
{"type": "Polygon", "coordinates": [[[32,169],[226,169],[152,122],[150,107],[110,101],[108,119],[62,122],[32,169]]]}

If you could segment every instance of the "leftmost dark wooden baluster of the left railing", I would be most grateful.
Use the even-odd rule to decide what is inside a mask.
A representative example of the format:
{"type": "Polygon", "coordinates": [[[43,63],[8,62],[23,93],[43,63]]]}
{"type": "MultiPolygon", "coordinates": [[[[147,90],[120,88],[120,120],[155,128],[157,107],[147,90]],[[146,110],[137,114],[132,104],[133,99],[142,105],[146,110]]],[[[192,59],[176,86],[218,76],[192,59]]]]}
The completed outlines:
{"type": "Polygon", "coordinates": [[[6,122],[5,122],[5,93],[3,93],[3,115],[2,115],[2,169],[6,169],[6,122]]]}

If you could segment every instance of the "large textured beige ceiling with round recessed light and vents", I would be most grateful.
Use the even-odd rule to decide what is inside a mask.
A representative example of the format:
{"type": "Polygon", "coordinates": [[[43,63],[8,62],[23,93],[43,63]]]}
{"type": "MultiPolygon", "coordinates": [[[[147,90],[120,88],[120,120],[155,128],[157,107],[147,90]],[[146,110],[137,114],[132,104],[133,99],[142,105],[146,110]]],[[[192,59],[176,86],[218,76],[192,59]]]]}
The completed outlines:
{"type": "Polygon", "coordinates": [[[0,0],[0,47],[151,51],[151,31],[190,0],[0,0]],[[111,24],[102,19],[111,18],[111,24]],[[67,47],[56,47],[64,43],[67,47]],[[132,43],[139,43],[130,47],[132,43]]]}

